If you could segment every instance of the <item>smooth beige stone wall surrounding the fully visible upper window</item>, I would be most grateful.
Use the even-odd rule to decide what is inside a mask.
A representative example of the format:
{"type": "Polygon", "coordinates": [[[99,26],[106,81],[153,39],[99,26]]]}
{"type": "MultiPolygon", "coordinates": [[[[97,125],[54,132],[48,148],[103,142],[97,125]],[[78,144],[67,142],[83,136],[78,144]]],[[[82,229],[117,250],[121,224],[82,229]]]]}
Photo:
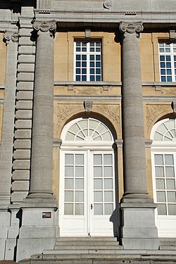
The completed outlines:
{"type": "MultiPolygon", "coordinates": [[[[103,81],[120,82],[120,44],[114,33],[91,32],[92,39],[102,42],[103,81]]],[[[85,32],[59,32],[54,40],[54,80],[74,80],[74,41],[85,39],[85,32]]]]}

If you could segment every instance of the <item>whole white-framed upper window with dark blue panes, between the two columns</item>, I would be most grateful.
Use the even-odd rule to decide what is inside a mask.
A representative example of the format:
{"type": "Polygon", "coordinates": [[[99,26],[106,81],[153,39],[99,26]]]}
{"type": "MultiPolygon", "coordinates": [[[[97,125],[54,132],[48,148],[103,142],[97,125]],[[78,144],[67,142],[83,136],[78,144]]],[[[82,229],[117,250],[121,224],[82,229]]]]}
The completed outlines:
{"type": "Polygon", "coordinates": [[[74,49],[75,81],[101,81],[101,42],[75,41],[74,49]]]}

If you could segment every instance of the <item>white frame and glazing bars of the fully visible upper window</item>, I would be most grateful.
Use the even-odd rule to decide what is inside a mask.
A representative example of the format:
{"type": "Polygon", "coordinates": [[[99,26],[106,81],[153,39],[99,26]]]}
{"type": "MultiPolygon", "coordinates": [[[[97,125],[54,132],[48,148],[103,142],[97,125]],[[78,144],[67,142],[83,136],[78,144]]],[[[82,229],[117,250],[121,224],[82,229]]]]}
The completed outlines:
{"type": "MultiPolygon", "coordinates": [[[[82,60],[80,61],[80,63],[82,64],[82,60]]],[[[93,68],[92,68],[93,69],[93,68]]],[[[102,42],[101,40],[91,40],[91,41],[87,41],[87,40],[77,40],[75,39],[74,41],[74,81],[77,82],[101,82],[102,81],[102,42]],[[86,44],[86,51],[77,51],[77,42],[80,43],[84,43],[86,44]],[[99,43],[100,46],[100,51],[91,51],[91,46],[90,43],[99,43]],[[84,55],[86,56],[86,62],[87,62],[87,66],[86,68],[84,67],[84,69],[87,70],[87,73],[82,73],[82,65],[80,65],[80,67],[76,67],[76,56],[77,55],[84,55]],[[100,56],[100,61],[96,61],[94,60],[95,66],[94,66],[94,74],[90,73],[91,70],[91,66],[90,66],[90,56],[96,56],[99,55],[100,56]],[[100,62],[100,67],[96,67],[96,62],[100,62]],[[80,69],[80,80],[77,80],[77,70],[80,69]],[[96,75],[96,69],[100,69],[100,74],[97,73],[96,75]],[[91,75],[94,75],[94,80],[91,80],[91,75]],[[86,80],[83,80],[83,76],[86,76],[86,80]],[[96,76],[100,76],[100,80],[96,80],[96,76]]]]}

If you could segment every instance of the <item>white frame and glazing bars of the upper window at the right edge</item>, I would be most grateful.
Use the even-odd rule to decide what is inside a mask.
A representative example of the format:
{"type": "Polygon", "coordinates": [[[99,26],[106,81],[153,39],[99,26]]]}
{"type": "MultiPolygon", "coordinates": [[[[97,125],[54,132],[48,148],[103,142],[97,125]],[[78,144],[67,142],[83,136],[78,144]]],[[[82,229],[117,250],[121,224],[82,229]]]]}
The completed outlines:
{"type": "Polygon", "coordinates": [[[174,56],[176,56],[176,43],[167,43],[167,42],[160,42],[158,43],[158,51],[159,51],[159,68],[160,68],[160,81],[161,82],[175,82],[176,81],[176,57],[174,60],[174,56]],[[163,45],[163,47],[161,46],[163,45]],[[170,51],[167,50],[168,46],[170,47],[170,51]],[[162,51],[161,51],[162,50],[162,51]],[[161,56],[165,56],[165,61],[161,61],[161,56]],[[166,56],[170,56],[170,67],[167,67],[166,63],[166,56]],[[161,63],[165,63],[165,68],[161,68],[161,63]],[[161,73],[162,70],[165,70],[165,75],[161,73]],[[167,74],[167,70],[171,70],[171,74],[167,74]],[[162,77],[165,77],[165,80],[162,80],[162,77]],[[171,77],[172,80],[168,80],[171,77]]]}

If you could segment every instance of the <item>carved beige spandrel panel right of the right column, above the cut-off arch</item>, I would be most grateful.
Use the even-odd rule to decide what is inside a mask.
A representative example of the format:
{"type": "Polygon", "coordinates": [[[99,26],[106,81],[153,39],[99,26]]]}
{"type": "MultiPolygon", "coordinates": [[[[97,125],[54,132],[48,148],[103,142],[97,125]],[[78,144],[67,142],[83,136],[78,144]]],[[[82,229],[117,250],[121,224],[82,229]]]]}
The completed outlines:
{"type": "Polygon", "coordinates": [[[161,118],[163,115],[170,113],[170,104],[147,104],[146,105],[146,126],[147,132],[151,126],[154,125],[157,119],[161,118]]]}

